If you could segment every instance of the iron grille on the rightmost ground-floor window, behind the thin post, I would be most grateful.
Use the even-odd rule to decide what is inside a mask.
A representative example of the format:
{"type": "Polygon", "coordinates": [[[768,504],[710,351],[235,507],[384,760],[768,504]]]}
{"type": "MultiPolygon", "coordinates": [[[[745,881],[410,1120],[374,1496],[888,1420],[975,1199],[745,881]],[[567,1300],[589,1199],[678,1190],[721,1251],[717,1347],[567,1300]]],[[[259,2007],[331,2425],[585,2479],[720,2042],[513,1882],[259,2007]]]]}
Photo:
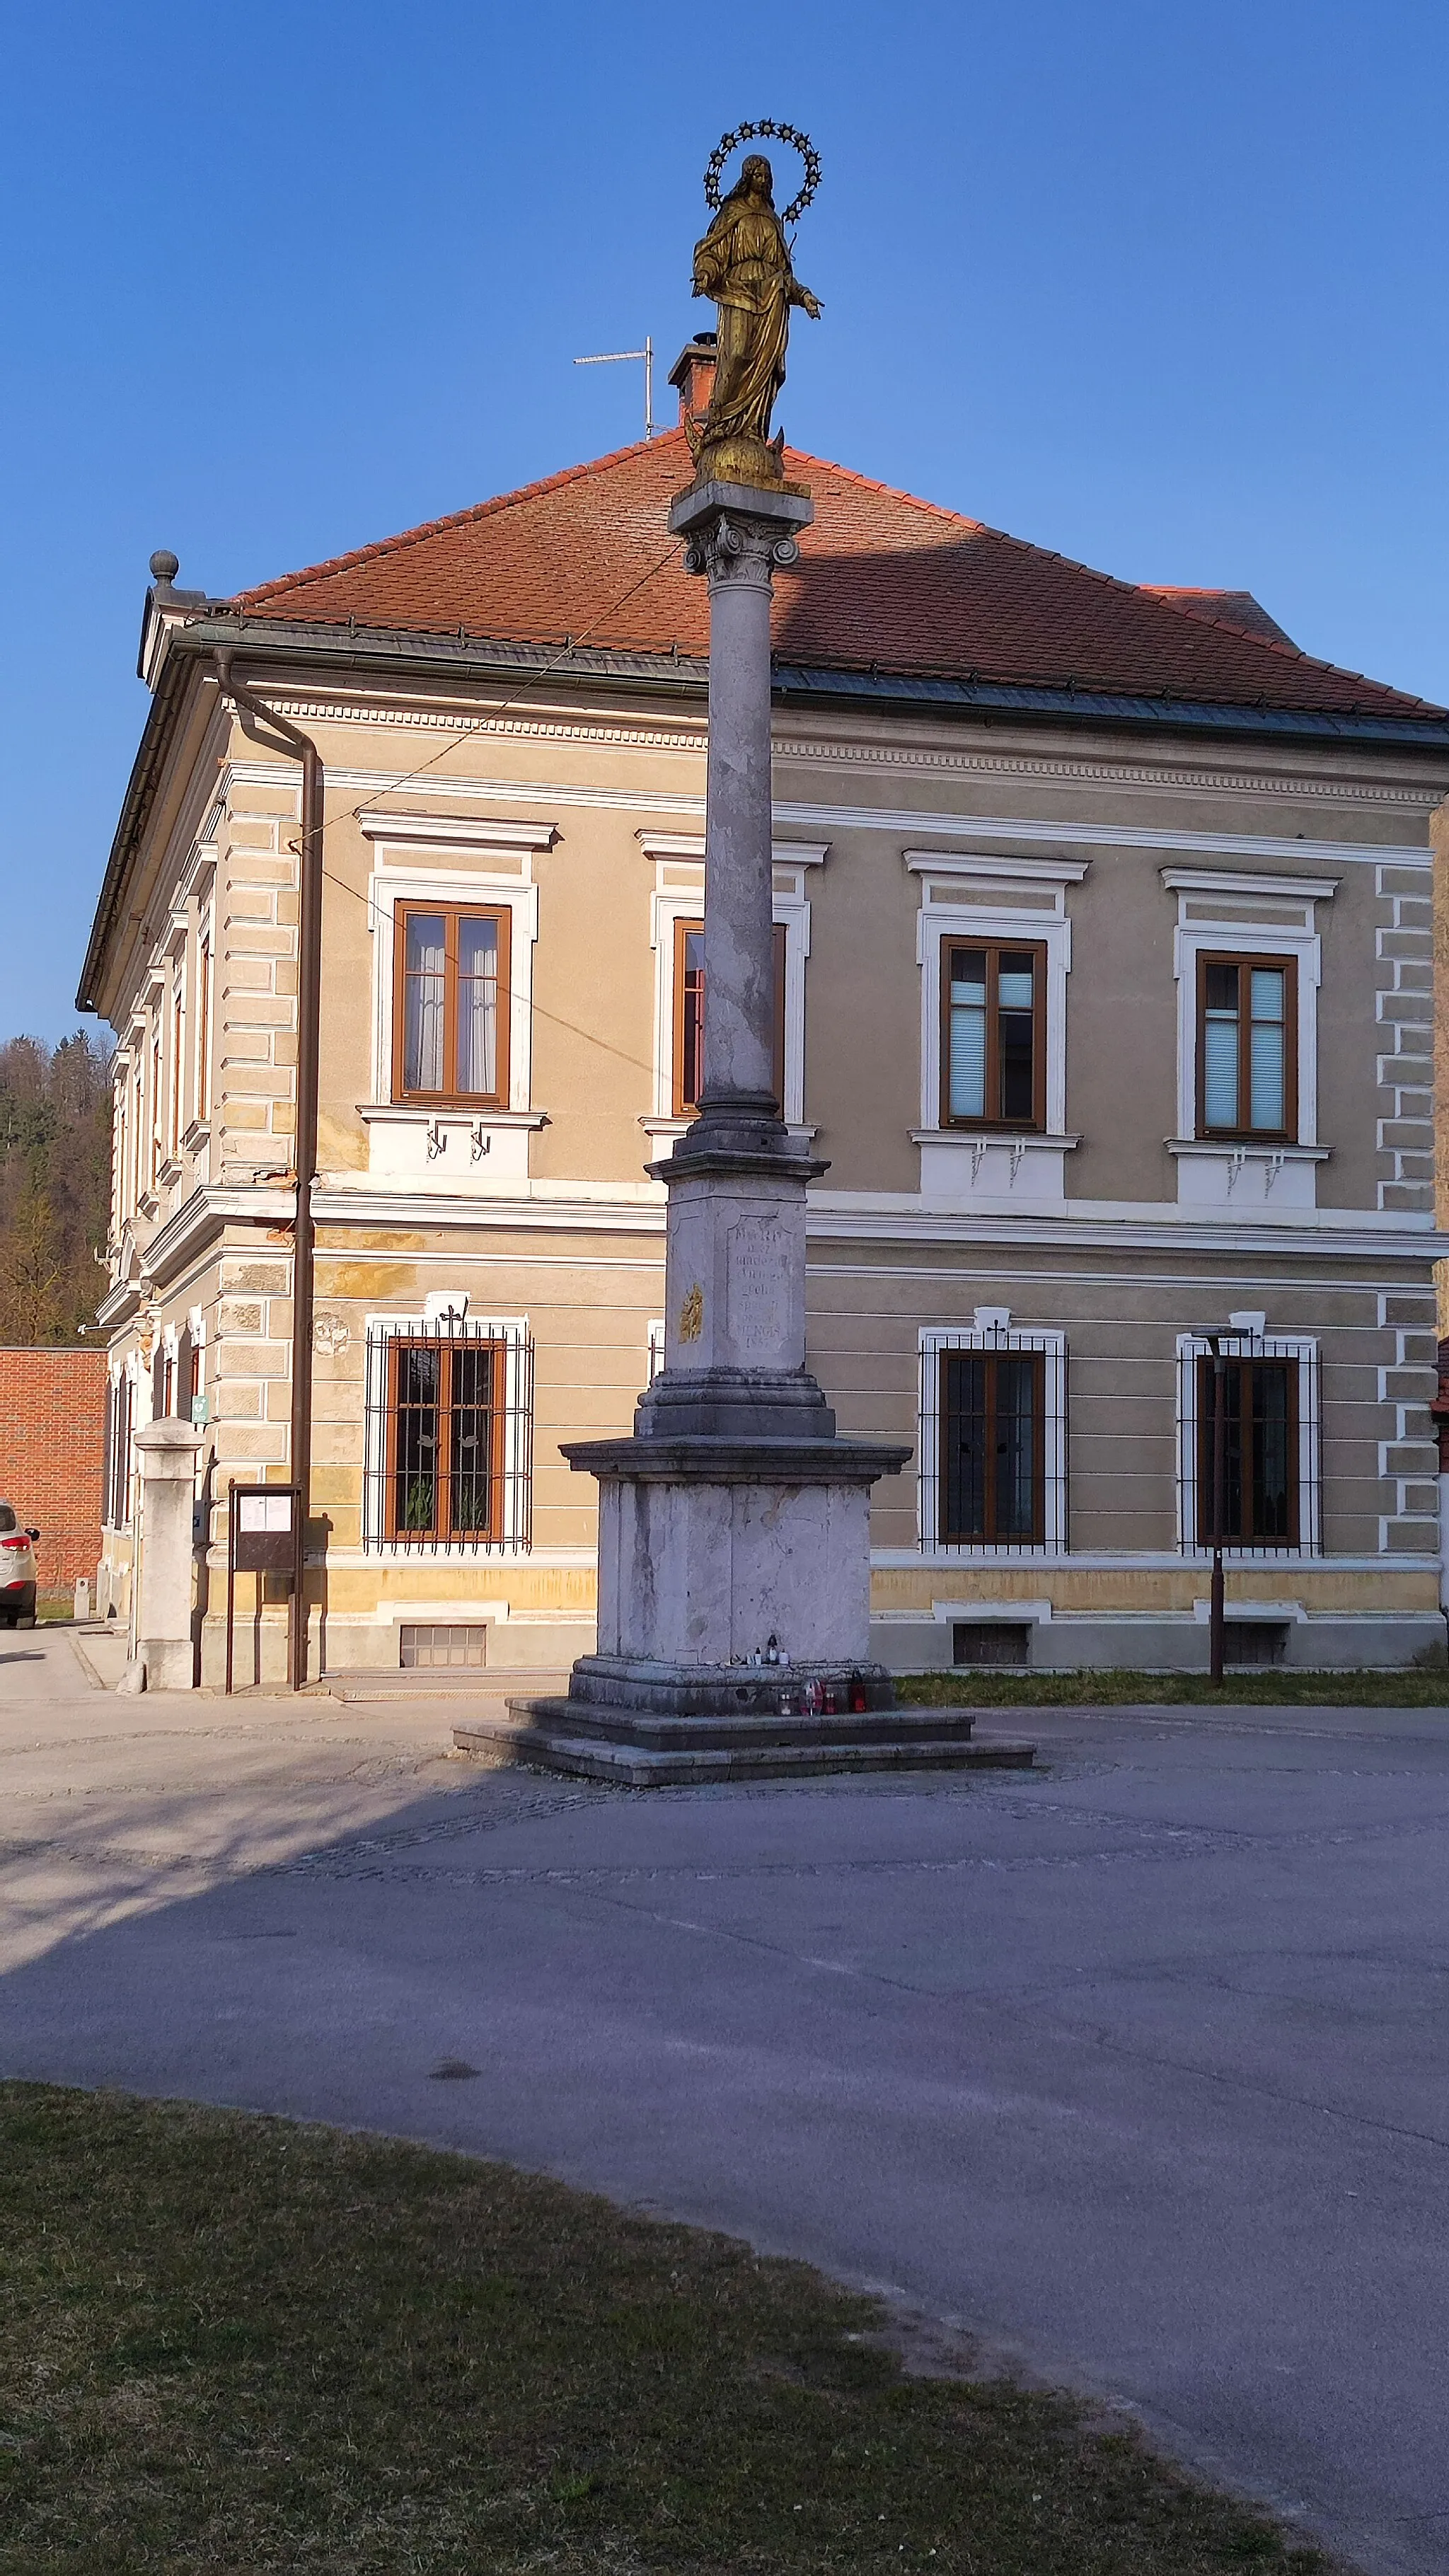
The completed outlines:
{"type": "MultiPolygon", "coordinates": [[[[1318,1342],[1305,1334],[1225,1332],[1227,1556],[1323,1551],[1323,1399],[1318,1342]]],[[[1178,1337],[1178,1546],[1212,1548],[1214,1368],[1201,1334],[1178,1337]]]]}

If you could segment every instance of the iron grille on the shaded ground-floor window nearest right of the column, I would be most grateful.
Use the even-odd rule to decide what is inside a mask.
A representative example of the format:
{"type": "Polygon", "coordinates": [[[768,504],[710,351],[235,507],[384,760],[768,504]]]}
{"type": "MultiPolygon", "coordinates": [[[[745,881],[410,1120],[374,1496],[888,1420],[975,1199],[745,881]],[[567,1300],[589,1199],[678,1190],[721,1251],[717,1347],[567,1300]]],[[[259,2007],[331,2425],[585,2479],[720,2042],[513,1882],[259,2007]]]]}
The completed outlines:
{"type": "Polygon", "coordinates": [[[1062,1553],[1065,1334],[1003,1321],[928,1327],[915,1455],[926,1556],[1062,1553]]]}

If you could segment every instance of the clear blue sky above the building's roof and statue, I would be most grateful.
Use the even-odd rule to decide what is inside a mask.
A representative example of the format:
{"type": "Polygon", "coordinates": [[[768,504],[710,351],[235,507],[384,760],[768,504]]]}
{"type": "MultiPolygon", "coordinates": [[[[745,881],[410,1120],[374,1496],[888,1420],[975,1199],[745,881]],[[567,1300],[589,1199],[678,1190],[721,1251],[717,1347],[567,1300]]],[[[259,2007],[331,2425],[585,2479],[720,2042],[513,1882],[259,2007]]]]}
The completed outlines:
{"type": "MultiPolygon", "coordinates": [[[[1449,701],[1428,0],[52,5],[10,18],[0,1036],[75,1025],[152,546],[211,592],[637,435],[745,116],[825,178],[779,417],[1449,701]]],[[[668,386],[660,386],[668,402],[668,386]]]]}

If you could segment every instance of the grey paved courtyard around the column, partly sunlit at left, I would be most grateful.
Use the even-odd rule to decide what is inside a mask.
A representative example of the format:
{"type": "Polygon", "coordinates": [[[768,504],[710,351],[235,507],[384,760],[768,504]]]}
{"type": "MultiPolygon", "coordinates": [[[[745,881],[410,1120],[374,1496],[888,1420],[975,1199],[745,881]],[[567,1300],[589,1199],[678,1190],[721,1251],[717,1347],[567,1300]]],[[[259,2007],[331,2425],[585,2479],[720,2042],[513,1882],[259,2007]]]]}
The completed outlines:
{"type": "Polygon", "coordinates": [[[3,1638],[0,2071],[724,2226],[1449,2568],[1449,1710],[1039,1710],[1039,1775],[655,1795],[472,1770],[462,1713],[3,1638]]]}

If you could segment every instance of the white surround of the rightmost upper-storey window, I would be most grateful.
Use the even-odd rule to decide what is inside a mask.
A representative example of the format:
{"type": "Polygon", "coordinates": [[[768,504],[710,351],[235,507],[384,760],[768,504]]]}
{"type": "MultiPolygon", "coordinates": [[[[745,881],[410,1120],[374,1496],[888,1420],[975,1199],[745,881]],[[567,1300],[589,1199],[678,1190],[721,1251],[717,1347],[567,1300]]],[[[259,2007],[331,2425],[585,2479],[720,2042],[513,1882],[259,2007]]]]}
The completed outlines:
{"type": "Polygon", "coordinates": [[[1281,1154],[1281,1139],[1199,1139],[1196,1126],[1196,992],[1199,956],[1271,956],[1297,961],[1297,1128],[1294,1146],[1318,1146],[1318,987],[1323,938],[1318,904],[1338,891],[1330,876],[1245,876],[1222,868],[1160,868],[1178,896],[1173,976],[1178,984],[1178,1133],[1176,1141],[1209,1154],[1281,1154]]]}

